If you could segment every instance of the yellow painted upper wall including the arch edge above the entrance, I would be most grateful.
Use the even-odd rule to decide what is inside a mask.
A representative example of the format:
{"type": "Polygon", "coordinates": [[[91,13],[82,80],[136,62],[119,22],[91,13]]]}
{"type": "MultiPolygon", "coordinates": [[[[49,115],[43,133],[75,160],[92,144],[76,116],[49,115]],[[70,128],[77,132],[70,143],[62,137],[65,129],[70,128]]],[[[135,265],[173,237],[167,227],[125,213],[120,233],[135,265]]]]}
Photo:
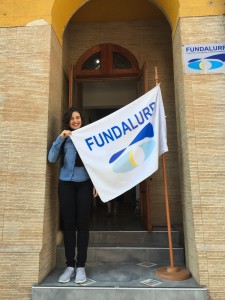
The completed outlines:
{"type": "MultiPolygon", "coordinates": [[[[99,1],[101,0],[0,1],[0,26],[26,26],[30,22],[44,20],[52,24],[59,41],[62,42],[64,29],[68,21],[81,6],[89,1],[92,2],[92,7],[96,4],[96,12],[98,12],[99,1]]],[[[115,5],[115,1],[112,0],[109,3],[115,5]]],[[[165,14],[172,31],[175,30],[179,17],[222,15],[225,13],[224,0],[149,0],[149,2],[155,4],[165,14]]],[[[146,12],[146,1],[124,0],[124,3],[127,3],[126,7],[129,8],[130,15],[122,14],[123,18],[128,19],[131,17],[137,3],[143,7],[143,12],[146,12]]],[[[121,11],[124,10],[121,9],[121,11]]],[[[93,21],[95,10],[92,9],[89,14],[87,11],[86,13],[84,14],[85,18],[90,16],[90,20],[93,21]]],[[[109,19],[113,18],[112,14],[110,10],[109,19]]],[[[151,14],[149,16],[151,17],[151,14]]]]}

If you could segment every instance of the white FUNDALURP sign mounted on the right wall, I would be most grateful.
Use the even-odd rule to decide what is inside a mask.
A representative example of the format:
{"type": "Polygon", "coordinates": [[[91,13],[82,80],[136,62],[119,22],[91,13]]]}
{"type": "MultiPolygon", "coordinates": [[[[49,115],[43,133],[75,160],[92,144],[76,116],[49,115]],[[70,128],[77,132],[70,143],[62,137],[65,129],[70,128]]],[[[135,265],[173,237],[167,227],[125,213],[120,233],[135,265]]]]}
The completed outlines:
{"type": "Polygon", "coordinates": [[[225,43],[183,45],[185,74],[225,73],[225,43]]]}

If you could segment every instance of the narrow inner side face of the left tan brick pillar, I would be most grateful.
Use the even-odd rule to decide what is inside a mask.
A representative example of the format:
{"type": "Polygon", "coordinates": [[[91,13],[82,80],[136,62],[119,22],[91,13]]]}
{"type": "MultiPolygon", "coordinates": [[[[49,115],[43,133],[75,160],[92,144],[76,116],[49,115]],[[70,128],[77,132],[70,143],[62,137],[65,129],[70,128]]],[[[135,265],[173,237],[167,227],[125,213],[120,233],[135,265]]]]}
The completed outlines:
{"type": "MultiPolygon", "coordinates": [[[[62,116],[62,48],[54,32],[51,32],[49,103],[46,150],[61,131],[62,116]]],[[[47,154],[46,154],[47,156],[47,154]]],[[[58,229],[58,165],[47,164],[45,178],[45,206],[43,240],[40,253],[39,282],[55,267],[56,234],[58,229]]]]}

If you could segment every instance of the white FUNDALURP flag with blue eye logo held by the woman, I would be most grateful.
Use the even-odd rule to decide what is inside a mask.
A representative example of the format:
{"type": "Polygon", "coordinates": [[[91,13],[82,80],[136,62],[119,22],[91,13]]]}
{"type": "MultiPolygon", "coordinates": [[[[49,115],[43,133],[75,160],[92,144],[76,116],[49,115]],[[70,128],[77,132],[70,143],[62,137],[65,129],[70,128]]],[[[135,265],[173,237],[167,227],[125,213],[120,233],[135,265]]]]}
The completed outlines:
{"type": "Polygon", "coordinates": [[[128,191],[158,169],[168,151],[160,86],[78,130],[71,139],[103,202],[128,191]]]}

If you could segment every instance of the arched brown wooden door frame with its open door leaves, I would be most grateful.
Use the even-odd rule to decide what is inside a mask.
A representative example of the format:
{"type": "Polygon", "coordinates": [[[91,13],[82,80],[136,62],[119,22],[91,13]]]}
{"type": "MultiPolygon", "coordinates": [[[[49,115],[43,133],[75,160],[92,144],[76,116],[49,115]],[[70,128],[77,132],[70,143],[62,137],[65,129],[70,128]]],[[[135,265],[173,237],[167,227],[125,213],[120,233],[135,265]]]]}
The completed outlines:
{"type": "MultiPolygon", "coordinates": [[[[83,109],[82,84],[88,81],[109,81],[109,80],[129,80],[137,81],[137,97],[148,91],[148,65],[144,62],[139,69],[138,62],[134,55],[127,49],[113,44],[101,44],[86,51],[75,65],[70,65],[69,69],[69,107],[75,106],[83,109]],[[87,60],[100,53],[103,63],[97,70],[83,70],[82,66],[87,60]],[[121,52],[131,64],[129,69],[113,69],[113,51],[121,52]],[[102,69],[101,69],[102,68],[102,69]]],[[[152,231],[152,215],[150,201],[150,178],[139,184],[140,187],[140,216],[141,224],[147,231],[152,231]]]]}

